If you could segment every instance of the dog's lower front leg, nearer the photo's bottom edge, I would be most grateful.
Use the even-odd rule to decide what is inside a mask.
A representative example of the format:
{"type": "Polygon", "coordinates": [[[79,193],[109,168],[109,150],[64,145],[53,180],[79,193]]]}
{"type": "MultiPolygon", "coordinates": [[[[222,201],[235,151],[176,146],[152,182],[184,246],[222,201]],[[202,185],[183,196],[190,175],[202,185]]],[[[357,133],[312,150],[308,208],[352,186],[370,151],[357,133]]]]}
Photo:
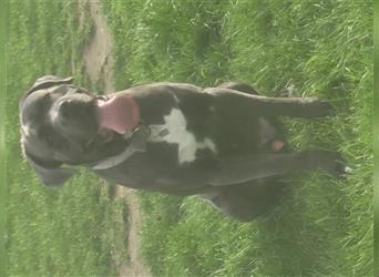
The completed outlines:
{"type": "Polygon", "coordinates": [[[252,179],[314,170],[324,170],[336,174],[340,160],[338,153],[326,151],[232,156],[218,161],[217,166],[208,175],[208,183],[215,186],[239,184],[252,179]]]}

